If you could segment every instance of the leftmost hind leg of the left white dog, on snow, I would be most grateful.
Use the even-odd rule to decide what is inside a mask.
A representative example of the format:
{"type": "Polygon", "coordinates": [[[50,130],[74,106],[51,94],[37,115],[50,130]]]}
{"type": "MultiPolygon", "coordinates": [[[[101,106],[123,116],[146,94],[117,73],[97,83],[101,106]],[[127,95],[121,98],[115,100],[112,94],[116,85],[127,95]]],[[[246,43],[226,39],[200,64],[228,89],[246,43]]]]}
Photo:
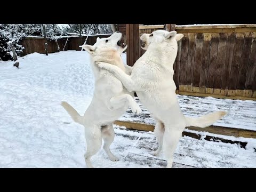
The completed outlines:
{"type": "Polygon", "coordinates": [[[91,157],[100,150],[102,143],[100,126],[94,127],[93,131],[88,131],[85,134],[85,139],[87,143],[87,150],[84,154],[85,163],[88,168],[93,168],[91,157]]]}

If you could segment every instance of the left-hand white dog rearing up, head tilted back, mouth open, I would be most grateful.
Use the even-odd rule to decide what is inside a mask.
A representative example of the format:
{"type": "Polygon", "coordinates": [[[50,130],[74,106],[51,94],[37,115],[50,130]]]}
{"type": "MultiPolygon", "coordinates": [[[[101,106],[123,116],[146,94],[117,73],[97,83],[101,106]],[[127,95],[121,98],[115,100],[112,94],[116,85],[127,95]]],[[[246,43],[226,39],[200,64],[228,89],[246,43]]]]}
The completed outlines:
{"type": "Polygon", "coordinates": [[[109,149],[115,136],[113,122],[121,117],[129,107],[133,113],[141,112],[139,105],[131,96],[132,93],[123,87],[114,74],[100,69],[94,64],[95,61],[104,61],[130,74],[131,67],[125,67],[121,58],[122,52],[127,48],[127,45],[125,47],[118,45],[121,37],[122,34],[117,31],[108,38],[97,38],[97,42],[93,46],[82,46],[90,53],[91,67],[95,78],[93,99],[84,116],[80,116],[67,102],[61,103],[73,120],[85,127],[87,150],[84,157],[87,167],[93,167],[91,157],[100,150],[102,138],[104,140],[103,149],[108,157],[111,161],[118,161],[118,158],[109,149]]]}

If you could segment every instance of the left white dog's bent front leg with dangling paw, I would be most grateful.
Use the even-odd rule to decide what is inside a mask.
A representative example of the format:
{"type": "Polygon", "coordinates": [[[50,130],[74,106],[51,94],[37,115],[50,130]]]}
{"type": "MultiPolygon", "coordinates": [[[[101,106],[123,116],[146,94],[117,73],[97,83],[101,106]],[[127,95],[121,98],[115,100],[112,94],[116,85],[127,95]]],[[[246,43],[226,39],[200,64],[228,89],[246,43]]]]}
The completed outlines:
{"type": "Polygon", "coordinates": [[[141,108],[138,105],[138,103],[132,98],[131,95],[129,94],[122,94],[122,95],[117,95],[115,97],[112,97],[110,99],[110,106],[113,109],[118,109],[121,106],[124,105],[124,103],[127,102],[129,103],[129,107],[131,108],[133,113],[140,114],[141,113],[141,108]]]}

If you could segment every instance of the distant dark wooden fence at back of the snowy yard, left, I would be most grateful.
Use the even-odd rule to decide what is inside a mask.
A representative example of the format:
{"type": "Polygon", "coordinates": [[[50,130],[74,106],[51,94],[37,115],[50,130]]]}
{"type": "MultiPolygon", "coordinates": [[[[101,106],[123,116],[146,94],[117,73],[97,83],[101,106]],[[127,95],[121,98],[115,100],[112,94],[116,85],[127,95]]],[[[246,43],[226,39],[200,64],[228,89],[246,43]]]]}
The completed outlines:
{"type": "MultiPolygon", "coordinates": [[[[102,35],[90,35],[87,39],[86,44],[93,45],[96,42],[97,37],[103,38],[103,37],[109,37],[111,34],[102,34],[102,35]]],[[[60,50],[63,50],[63,47],[65,46],[65,43],[67,41],[68,37],[62,37],[58,39],[58,44],[60,46],[60,50]]],[[[86,36],[80,37],[79,36],[71,36],[68,38],[67,44],[65,46],[65,51],[67,50],[77,50],[81,51],[81,47],[79,45],[83,45],[85,42],[86,36]]],[[[55,41],[50,41],[47,39],[48,44],[48,52],[54,53],[57,52],[57,44],[55,41]]],[[[25,47],[23,52],[21,53],[21,56],[30,54],[30,53],[45,53],[44,51],[44,38],[43,37],[26,37],[21,41],[21,45],[25,47]]]]}

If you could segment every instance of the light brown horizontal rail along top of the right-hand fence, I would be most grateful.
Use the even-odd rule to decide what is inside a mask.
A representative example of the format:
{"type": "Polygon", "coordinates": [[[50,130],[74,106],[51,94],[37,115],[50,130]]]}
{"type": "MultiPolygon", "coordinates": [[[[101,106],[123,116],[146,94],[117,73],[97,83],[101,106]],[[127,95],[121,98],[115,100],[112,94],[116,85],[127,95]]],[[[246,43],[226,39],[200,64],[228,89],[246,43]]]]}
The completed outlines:
{"type": "Polygon", "coordinates": [[[255,32],[256,28],[223,28],[223,29],[176,29],[177,33],[245,33],[255,32]]]}

